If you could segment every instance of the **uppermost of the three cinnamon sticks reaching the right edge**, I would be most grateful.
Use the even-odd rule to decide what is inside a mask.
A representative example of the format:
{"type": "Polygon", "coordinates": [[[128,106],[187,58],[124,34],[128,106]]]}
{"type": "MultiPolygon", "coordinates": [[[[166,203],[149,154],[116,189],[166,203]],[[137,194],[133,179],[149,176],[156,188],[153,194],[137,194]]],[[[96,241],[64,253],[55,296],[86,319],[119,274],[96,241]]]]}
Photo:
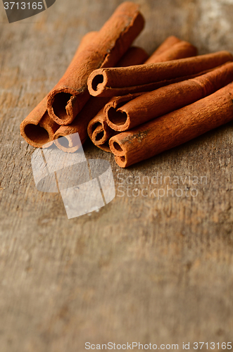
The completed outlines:
{"type": "MultiPolygon", "coordinates": [[[[227,61],[233,61],[228,51],[180,58],[163,63],[135,65],[129,68],[101,68],[89,75],[87,84],[93,96],[116,96],[132,92],[146,92],[146,86],[177,77],[195,75],[227,61]]],[[[155,89],[155,88],[154,88],[155,89]]],[[[153,90],[153,89],[152,89],[153,90]]]]}

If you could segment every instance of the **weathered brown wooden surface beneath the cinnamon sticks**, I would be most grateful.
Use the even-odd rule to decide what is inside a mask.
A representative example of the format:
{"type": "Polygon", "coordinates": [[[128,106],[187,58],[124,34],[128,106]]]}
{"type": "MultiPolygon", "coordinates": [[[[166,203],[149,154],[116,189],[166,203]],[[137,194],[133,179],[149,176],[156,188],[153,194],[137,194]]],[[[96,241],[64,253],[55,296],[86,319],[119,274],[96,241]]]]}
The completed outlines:
{"type": "MultiPolygon", "coordinates": [[[[233,122],[127,170],[87,142],[87,158],[111,161],[116,182],[117,196],[99,212],[68,220],[61,195],[34,186],[34,148],[20,122],[63,75],[82,35],[120,2],[57,0],[12,24],[0,4],[1,352],[232,341],[233,122]],[[126,181],[157,172],[182,177],[174,191],[193,188],[185,177],[207,182],[195,185],[196,197],[121,196],[119,173],[126,181]]],[[[231,0],[139,3],[146,27],[137,44],[150,54],[170,34],[201,54],[233,52],[231,0]]]]}

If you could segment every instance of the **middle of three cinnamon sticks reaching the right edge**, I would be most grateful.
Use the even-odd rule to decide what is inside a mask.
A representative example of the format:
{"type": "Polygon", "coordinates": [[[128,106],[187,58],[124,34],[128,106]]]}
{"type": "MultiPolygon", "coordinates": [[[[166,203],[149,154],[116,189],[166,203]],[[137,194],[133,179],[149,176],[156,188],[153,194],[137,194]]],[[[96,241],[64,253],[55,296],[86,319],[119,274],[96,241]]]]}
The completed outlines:
{"type": "MultiPolygon", "coordinates": [[[[106,122],[115,131],[126,131],[158,116],[175,111],[204,98],[233,81],[233,63],[191,80],[170,84],[129,99],[122,106],[121,99],[106,104],[106,122]]],[[[125,99],[127,101],[127,99],[125,99]]]]}

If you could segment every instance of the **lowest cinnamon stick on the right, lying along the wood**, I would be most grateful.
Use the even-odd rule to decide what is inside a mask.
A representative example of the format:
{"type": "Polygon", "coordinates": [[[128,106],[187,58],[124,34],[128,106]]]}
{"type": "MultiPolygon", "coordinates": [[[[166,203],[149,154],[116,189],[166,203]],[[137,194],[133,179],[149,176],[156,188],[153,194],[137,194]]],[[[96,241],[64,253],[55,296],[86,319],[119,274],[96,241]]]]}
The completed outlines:
{"type": "Polygon", "coordinates": [[[233,120],[232,98],[230,83],[184,108],[116,134],[109,141],[115,161],[125,168],[233,120]]]}

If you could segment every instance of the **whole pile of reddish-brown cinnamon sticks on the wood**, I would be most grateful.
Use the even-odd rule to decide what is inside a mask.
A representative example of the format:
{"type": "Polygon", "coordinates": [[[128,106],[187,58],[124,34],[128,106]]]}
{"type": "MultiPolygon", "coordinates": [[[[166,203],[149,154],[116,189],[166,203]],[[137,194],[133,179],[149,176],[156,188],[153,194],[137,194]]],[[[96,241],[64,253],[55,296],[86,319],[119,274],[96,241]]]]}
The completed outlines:
{"type": "Polygon", "coordinates": [[[143,27],[139,6],[124,2],[86,34],[61,80],[21,123],[25,140],[73,153],[89,135],[125,168],[233,120],[232,54],[196,56],[195,46],[171,36],[149,57],[131,46],[143,27]]]}

